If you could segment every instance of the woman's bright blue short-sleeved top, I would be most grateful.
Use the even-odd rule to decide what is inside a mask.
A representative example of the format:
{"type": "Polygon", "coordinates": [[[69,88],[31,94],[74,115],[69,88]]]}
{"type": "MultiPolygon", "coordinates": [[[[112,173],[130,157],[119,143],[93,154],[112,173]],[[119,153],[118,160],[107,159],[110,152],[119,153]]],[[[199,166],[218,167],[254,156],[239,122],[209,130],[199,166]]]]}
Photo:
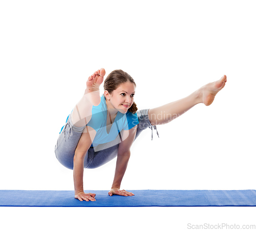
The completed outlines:
{"type": "MultiPolygon", "coordinates": [[[[139,123],[137,113],[133,114],[129,110],[123,114],[117,112],[116,118],[111,126],[109,134],[106,132],[106,117],[108,113],[108,108],[106,107],[104,94],[100,97],[100,104],[98,106],[93,106],[92,108],[92,118],[87,124],[96,131],[95,138],[92,142],[92,146],[97,146],[98,144],[108,143],[113,141],[118,136],[118,133],[122,130],[130,130],[132,127],[139,123]]],[[[73,110],[72,110],[73,111],[73,110]]],[[[72,112],[71,111],[71,112],[72,112]]],[[[71,113],[69,114],[69,116],[71,113]]],[[[69,118],[68,116],[68,118],[69,118]]],[[[66,120],[66,123],[68,121],[66,120]]],[[[60,133],[64,126],[61,127],[60,133]]],[[[60,134],[59,133],[59,134],[60,134]]]]}

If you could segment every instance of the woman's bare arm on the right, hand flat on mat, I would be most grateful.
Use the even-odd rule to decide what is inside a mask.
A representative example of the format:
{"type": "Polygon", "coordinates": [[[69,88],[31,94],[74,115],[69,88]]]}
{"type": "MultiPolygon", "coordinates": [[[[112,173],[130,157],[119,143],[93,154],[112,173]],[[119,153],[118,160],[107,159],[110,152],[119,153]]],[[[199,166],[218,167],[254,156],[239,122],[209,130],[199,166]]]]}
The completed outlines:
{"type": "Polygon", "coordinates": [[[133,193],[126,192],[125,190],[120,190],[121,181],[125,170],[127,168],[131,151],[130,148],[133,144],[137,131],[137,125],[134,126],[130,130],[122,130],[121,138],[122,142],[119,143],[118,146],[118,154],[117,154],[117,162],[116,162],[116,171],[114,176],[114,181],[109,192],[109,195],[112,196],[113,194],[121,195],[121,196],[132,196],[133,193]]]}

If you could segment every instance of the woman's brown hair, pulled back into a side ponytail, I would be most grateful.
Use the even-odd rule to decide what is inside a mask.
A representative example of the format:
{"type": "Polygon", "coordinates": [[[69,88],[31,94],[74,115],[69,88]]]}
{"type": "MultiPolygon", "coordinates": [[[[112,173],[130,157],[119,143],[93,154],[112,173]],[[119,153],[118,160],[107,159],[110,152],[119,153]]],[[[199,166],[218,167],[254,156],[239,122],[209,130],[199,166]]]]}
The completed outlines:
{"type": "MultiPolygon", "coordinates": [[[[120,84],[126,83],[128,81],[133,83],[136,87],[134,79],[130,74],[120,69],[113,70],[112,72],[109,73],[109,75],[106,77],[104,81],[104,85],[103,85],[104,91],[107,90],[111,94],[114,90],[118,88],[120,84]]],[[[133,105],[131,106],[131,108],[129,108],[129,111],[134,114],[137,112],[137,110],[138,110],[137,105],[135,104],[135,102],[133,102],[133,105]]]]}

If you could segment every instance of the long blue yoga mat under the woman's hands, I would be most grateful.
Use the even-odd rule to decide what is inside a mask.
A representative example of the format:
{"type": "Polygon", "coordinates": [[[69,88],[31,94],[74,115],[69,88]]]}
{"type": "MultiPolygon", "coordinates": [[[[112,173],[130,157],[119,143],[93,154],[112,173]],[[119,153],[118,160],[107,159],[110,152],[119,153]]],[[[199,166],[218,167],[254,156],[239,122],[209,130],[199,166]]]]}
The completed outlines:
{"type": "MultiPolygon", "coordinates": [[[[96,201],[79,201],[74,191],[0,190],[0,206],[25,207],[199,207],[256,206],[256,190],[131,190],[135,196],[109,196],[87,190],[96,201]]],[[[129,191],[129,190],[127,190],[129,191]]],[[[130,192],[130,191],[129,191],[130,192]]]]}

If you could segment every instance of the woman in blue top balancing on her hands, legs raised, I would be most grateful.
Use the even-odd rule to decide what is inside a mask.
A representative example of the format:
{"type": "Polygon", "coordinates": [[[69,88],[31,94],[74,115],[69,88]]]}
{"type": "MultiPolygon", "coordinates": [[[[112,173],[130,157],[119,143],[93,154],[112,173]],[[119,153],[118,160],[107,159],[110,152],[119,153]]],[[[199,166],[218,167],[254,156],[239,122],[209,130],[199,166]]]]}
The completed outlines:
{"type": "Polygon", "coordinates": [[[133,78],[122,70],[112,71],[104,81],[104,94],[100,96],[104,75],[105,70],[101,68],[89,77],[87,89],[61,128],[55,145],[58,161],[73,169],[75,198],[80,201],[96,200],[96,194],[83,191],[83,169],[99,167],[115,157],[116,171],[109,195],[133,196],[120,190],[120,185],[134,140],[147,127],[156,130],[156,125],[172,121],[199,103],[209,106],[227,81],[224,75],[185,98],[137,112],[133,78]]]}

